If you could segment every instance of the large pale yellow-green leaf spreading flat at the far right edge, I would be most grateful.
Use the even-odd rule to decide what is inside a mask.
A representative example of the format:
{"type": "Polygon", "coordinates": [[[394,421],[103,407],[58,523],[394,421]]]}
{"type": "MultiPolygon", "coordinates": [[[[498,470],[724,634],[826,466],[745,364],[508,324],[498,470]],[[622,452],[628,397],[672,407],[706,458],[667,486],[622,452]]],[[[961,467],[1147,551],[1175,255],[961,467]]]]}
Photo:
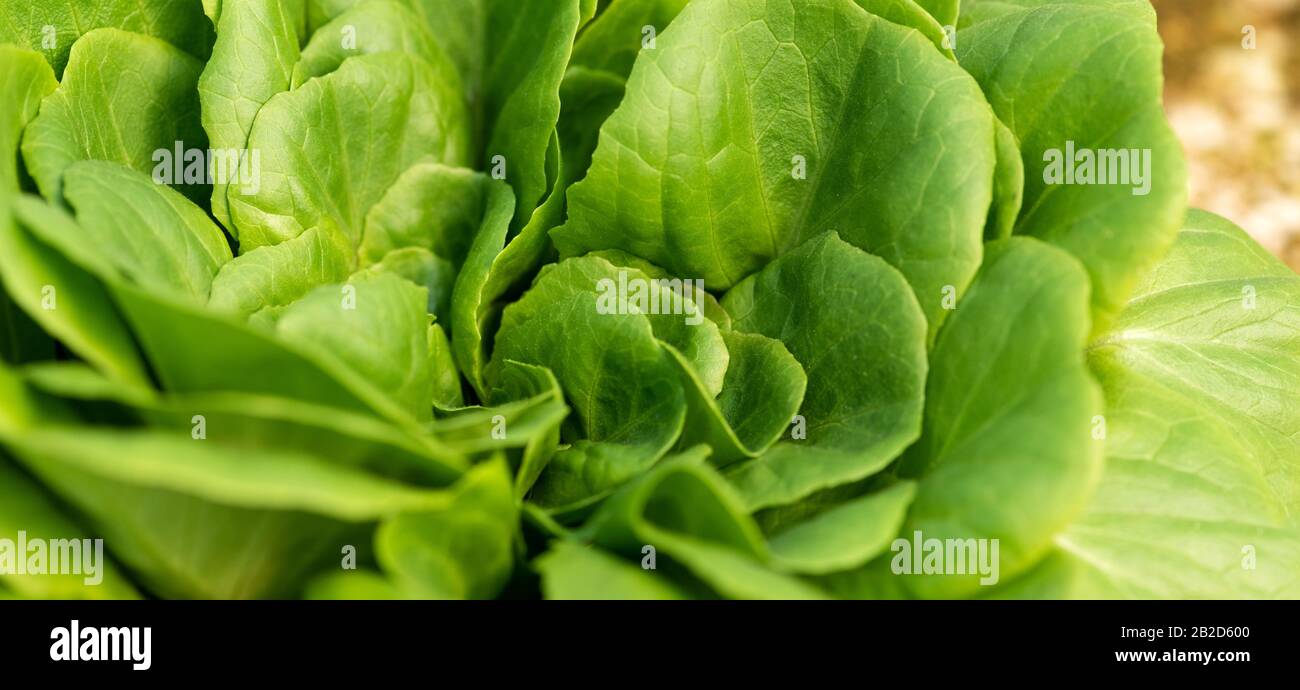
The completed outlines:
{"type": "Polygon", "coordinates": [[[1089,348],[1106,473],[1008,596],[1300,596],[1300,277],[1188,214],[1089,348]]]}

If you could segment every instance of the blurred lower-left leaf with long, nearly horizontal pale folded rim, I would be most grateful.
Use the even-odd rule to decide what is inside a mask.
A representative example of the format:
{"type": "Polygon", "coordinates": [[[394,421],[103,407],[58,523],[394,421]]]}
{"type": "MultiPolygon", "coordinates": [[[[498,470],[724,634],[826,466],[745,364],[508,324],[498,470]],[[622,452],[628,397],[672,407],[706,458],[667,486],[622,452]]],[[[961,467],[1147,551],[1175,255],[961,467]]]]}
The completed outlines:
{"type": "Polygon", "coordinates": [[[162,596],[291,595],[364,525],[447,502],[300,452],[174,431],[52,428],[4,441],[162,596]]]}

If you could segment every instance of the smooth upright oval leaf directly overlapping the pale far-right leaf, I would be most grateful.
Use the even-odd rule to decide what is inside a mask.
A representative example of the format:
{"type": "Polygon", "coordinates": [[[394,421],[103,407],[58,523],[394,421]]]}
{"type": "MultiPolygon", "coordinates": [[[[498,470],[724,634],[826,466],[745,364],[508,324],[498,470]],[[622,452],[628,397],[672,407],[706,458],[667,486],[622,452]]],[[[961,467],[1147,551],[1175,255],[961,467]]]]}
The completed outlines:
{"type": "MultiPolygon", "coordinates": [[[[989,246],[935,344],[924,431],[898,468],[918,481],[904,538],[997,539],[998,580],[1050,548],[1101,474],[1088,329],[1088,281],[1072,257],[1028,238],[989,246]]],[[[950,598],[991,574],[902,580],[918,595],[950,598]]]]}

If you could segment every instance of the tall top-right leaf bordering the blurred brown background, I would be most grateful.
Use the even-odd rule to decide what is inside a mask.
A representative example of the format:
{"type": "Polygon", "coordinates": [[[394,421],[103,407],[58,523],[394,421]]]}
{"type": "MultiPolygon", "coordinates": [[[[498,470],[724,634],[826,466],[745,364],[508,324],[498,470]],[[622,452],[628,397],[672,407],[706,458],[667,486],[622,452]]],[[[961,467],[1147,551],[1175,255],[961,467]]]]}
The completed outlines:
{"type": "Polygon", "coordinates": [[[1019,140],[1024,205],[1015,231],[1083,261],[1100,333],[1169,248],[1186,209],[1186,164],[1161,108],[1154,10],[1144,0],[976,8],[984,5],[998,13],[961,31],[958,57],[1019,140]],[[1124,185],[1046,185],[1045,155],[1067,142],[1149,151],[1149,194],[1124,185]]]}

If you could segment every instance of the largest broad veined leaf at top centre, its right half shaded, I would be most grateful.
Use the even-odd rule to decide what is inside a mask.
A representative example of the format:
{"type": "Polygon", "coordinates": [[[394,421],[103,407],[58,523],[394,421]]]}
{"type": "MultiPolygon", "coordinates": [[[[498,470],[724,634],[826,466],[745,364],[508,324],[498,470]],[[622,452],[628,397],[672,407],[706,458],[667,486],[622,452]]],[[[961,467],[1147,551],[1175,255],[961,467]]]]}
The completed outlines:
{"type": "Polygon", "coordinates": [[[993,168],[979,86],[915,31],[850,0],[692,3],[551,235],[727,290],[833,230],[902,272],[933,337],[979,266],[993,168]]]}

